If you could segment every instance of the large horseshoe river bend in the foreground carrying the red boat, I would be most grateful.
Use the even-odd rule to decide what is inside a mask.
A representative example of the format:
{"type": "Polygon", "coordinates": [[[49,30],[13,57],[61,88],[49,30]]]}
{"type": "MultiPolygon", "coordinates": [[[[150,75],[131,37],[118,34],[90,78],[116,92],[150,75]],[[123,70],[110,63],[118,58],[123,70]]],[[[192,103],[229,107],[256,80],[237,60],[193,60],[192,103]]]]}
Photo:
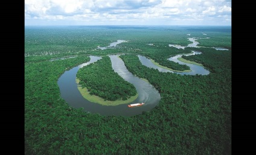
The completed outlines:
{"type": "Polygon", "coordinates": [[[109,55],[112,68],[117,72],[124,80],[129,81],[136,87],[136,91],[139,96],[136,98],[133,103],[146,103],[142,107],[138,108],[129,108],[128,104],[121,104],[118,106],[102,106],[101,104],[91,103],[90,101],[83,98],[79,90],[77,89],[77,83],[75,83],[75,77],[79,68],[89,65],[90,63],[97,62],[100,60],[100,57],[90,56],[91,60],[88,63],[83,63],[75,68],[66,71],[58,81],[60,87],[60,94],[62,98],[69,104],[69,106],[75,108],[81,108],[86,112],[90,113],[99,113],[100,115],[109,116],[133,116],[139,115],[143,111],[149,111],[153,109],[160,101],[161,97],[158,93],[158,90],[155,89],[151,84],[146,81],[141,80],[138,77],[135,77],[130,73],[126,66],[124,65],[123,60],[118,58],[118,55],[109,55]]]}

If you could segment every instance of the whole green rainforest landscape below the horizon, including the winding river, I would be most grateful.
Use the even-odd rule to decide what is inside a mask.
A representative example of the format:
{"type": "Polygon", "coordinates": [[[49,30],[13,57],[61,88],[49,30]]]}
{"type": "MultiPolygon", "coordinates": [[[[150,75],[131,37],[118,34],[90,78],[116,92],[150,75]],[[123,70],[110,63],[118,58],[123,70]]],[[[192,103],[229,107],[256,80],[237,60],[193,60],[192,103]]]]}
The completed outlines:
{"type": "Polygon", "coordinates": [[[231,154],[231,54],[228,26],[25,26],[25,154],[231,154]]]}

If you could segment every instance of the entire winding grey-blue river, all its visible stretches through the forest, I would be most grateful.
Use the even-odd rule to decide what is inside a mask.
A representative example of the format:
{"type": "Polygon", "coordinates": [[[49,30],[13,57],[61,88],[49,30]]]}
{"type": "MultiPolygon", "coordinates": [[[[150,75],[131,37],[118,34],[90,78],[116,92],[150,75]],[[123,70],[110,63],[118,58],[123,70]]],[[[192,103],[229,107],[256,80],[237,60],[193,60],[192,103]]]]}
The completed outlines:
{"type": "MultiPolygon", "coordinates": [[[[195,38],[188,38],[191,42],[188,44],[188,46],[191,47],[199,47],[197,46],[198,42],[196,42],[195,38]]],[[[98,47],[100,49],[107,49],[112,46],[116,46],[118,43],[127,42],[126,40],[118,40],[117,42],[110,43],[107,47],[98,47]]],[[[170,45],[169,45],[170,46],[170,45]]],[[[176,48],[185,48],[185,46],[180,45],[173,45],[176,48]]],[[[224,48],[218,48],[217,50],[226,50],[224,48]]],[[[192,51],[191,54],[185,54],[185,55],[194,55],[194,54],[201,54],[201,52],[192,51]]],[[[132,83],[136,91],[138,92],[138,98],[136,98],[135,101],[129,104],[133,103],[146,103],[144,106],[141,107],[135,107],[135,108],[129,108],[128,104],[121,104],[118,106],[102,106],[101,104],[91,103],[90,101],[83,98],[79,90],[77,89],[77,83],[75,83],[75,78],[78,69],[87,66],[91,63],[97,62],[97,60],[100,60],[101,57],[96,56],[90,56],[90,61],[87,63],[83,63],[82,65],[79,65],[77,67],[74,67],[70,69],[69,71],[65,71],[64,74],[59,78],[58,85],[60,87],[60,94],[62,98],[69,104],[69,106],[72,106],[74,108],[83,108],[85,112],[88,113],[99,113],[100,115],[109,116],[109,115],[115,115],[115,116],[133,116],[133,115],[139,115],[142,112],[149,111],[153,109],[160,101],[161,96],[158,92],[158,90],[155,89],[151,84],[147,83],[144,80],[141,80],[140,78],[134,76],[132,73],[130,73],[126,66],[124,65],[123,60],[121,60],[117,55],[109,55],[112,68],[115,72],[118,73],[121,77],[124,78],[124,80],[128,81],[129,83],[132,83]]],[[[168,60],[177,62],[182,65],[187,65],[190,67],[191,72],[174,72],[170,71],[168,69],[161,68],[159,66],[156,66],[153,64],[150,59],[147,59],[146,57],[142,55],[138,55],[139,60],[141,61],[142,65],[147,66],[149,68],[158,69],[159,72],[173,72],[175,74],[181,74],[181,75],[208,75],[210,72],[203,68],[202,66],[197,66],[193,64],[184,63],[178,60],[179,57],[182,55],[176,55],[174,57],[170,57],[168,60]]]]}

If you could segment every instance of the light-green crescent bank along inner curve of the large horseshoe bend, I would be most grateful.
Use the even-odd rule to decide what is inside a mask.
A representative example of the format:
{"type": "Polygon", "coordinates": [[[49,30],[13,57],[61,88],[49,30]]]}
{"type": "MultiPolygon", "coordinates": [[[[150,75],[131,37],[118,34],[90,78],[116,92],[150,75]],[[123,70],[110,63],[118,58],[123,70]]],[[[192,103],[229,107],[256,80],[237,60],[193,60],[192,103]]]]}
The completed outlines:
{"type": "Polygon", "coordinates": [[[98,103],[103,106],[118,106],[120,104],[132,103],[139,96],[138,93],[136,93],[135,96],[131,96],[128,100],[107,101],[107,100],[104,100],[103,98],[100,98],[99,96],[91,95],[88,89],[86,89],[86,87],[82,88],[82,86],[79,85],[79,81],[80,80],[78,78],[75,78],[75,83],[77,83],[77,88],[81,93],[81,95],[83,96],[83,98],[85,98],[86,100],[92,103],[98,103]]]}

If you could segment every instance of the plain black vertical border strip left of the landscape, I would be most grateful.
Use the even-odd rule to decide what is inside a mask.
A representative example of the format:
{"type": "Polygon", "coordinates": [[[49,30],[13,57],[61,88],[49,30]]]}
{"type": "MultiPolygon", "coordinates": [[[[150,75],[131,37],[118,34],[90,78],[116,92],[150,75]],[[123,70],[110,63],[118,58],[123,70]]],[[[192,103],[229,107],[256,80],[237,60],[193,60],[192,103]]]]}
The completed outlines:
{"type": "Polygon", "coordinates": [[[24,154],[24,1],[2,3],[2,150],[24,154]]]}

